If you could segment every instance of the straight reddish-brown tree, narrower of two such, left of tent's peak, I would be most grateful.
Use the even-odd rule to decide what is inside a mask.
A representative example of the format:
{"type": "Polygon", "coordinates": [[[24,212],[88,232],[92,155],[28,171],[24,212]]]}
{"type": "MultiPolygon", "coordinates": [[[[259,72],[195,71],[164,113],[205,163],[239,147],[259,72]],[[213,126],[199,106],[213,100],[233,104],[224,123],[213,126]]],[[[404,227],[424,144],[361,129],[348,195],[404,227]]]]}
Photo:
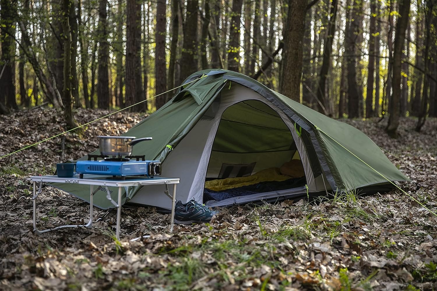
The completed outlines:
{"type": "MultiPolygon", "coordinates": [[[[188,1],[190,2],[190,1],[188,1]]],[[[195,2],[195,1],[193,1],[195,2]]],[[[197,7],[197,6],[196,6],[197,7]]],[[[192,7],[191,7],[192,8],[192,7]]],[[[188,9],[188,8],[187,8],[188,9]]],[[[165,0],[158,0],[156,8],[156,49],[155,49],[155,82],[156,82],[156,95],[161,94],[166,91],[166,61],[165,61],[165,31],[166,31],[166,3],[165,0]]],[[[194,11],[197,15],[197,11],[194,11]]],[[[197,17],[195,17],[196,27],[197,27],[197,17]]],[[[192,24],[192,23],[190,23],[192,24]]],[[[185,34],[184,34],[185,35],[185,34]]],[[[192,45],[192,43],[191,43],[192,45]]],[[[184,38],[184,48],[185,48],[185,38],[184,38]]],[[[194,48],[190,47],[191,54],[188,54],[191,59],[194,59],[194,48]]],[[[185,60],[186,61],[186,60],[185,60]]],[[[184,61],[183,61],[184,62],[184,61]]],[[[191,63],[192,65],[192,63],[191,63]]],[[[187,65],[184,66],[182,72],[187,65]]],[[[188,72],[191,70],[188,69],[188,72]]],[[[165,95],[160,95],[156,97],[156,109],[161,108],[166,101],[165,95]]]]}

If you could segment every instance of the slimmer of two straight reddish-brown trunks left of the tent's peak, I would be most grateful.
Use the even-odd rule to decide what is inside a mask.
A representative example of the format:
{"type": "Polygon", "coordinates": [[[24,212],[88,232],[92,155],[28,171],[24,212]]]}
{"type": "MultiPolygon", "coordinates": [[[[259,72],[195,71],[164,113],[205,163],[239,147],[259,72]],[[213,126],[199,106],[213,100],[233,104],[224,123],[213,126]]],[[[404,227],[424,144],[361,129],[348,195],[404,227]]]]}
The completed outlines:
{"type": "MultiPolygon", "coordinates": [[[[195,44],[195,39],[197,36],[197,0],[193,1],[193,0],[189,0],[188,1],[188,5],[191,9],[193,9],[193,3],[194,2],[194,6],[196,9],[190,10],[191,13],[194,13],[194,15],[187,15],[187,24],[186,24],[186,31],[184,31],[184,48],[189,50],[185,53],[185,56],[187,58],[191,59],[191,67],[195,67],[197,69],[197,66],[194,66],[194,56],[197,54],[195,53],[195,46],[193,46],[195,44]],[[195,21],[195,22],[193,22],[195,21]],[[192,26],[193,24],[194,27],[192,26]],[[194,31],[192,31],[191,29],[194,29],[194,31]],[[187,33],[187,31],[189,31],[189,33],[187,33]],[[191,35],[191,33],[194,32],[194,35],[191,35]],[[187,39],[185,38],[185,36],[187,34],[191,35],[191,38],[187,37],[187,39]],[[193,38],[194,37],[194,38],[193,38]],[[187,41],[189,44],[189,46],[186,46],[185,41],[187,41]]],[[[187,7],[188,9],[188,7],[187,7]]],[[[188,12],[187,12],[188,13],[188,12]]],[[[155,50],[155,82],[156,82],[156,95],[161,94],[163,92],[166,91],[166,62],[165,62],[165,33],[166,33],[166,1],[165,0],[158,0],[158,4],[157,4],[157,9],[156,9],[156,50],[155,50]]],[[[187,43],[187,45],[188,45],[187,43]]],[[[184,58],[184,53],[182,58],[184,58]]],[[[182,73],[183,74],[187,74],[189,72],[191,72],[191,69],[187,68],[187,60],[182,60],[182,64],[184,64],[183,68],[181,68],[182,73]],[[187,71],[185,71],[187,70],[187,71]]],[[[166,96],[161,95],[156,97],[156,109],[160,109],[166,100],[166,96]]]]}

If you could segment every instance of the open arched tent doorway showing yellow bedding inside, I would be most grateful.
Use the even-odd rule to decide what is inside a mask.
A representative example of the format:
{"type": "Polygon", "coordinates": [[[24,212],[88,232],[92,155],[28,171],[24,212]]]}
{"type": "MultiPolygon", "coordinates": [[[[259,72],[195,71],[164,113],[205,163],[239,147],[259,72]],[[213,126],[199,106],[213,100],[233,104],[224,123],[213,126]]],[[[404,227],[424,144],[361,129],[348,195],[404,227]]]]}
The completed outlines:
{"type": "Polygon", "coordinates": [[[274,109],[253,99],[226,108],[212,144],[204,202],[305,184],[293,135],[274,109]]]}

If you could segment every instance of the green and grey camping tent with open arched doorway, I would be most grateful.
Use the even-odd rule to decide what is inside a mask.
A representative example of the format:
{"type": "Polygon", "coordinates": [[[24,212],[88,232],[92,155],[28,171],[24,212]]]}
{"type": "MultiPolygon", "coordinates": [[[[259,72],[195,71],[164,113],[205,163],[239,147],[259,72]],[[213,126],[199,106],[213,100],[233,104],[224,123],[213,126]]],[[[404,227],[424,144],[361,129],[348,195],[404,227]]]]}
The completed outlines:
{"type": "MultiPolygon", "coordinates": [[[[169,102],[123,134],[153,137],[132,154],[160,160],[163,177],[180,178],[176,195],[182,202],[194,199],[214,207],[353,189],[382,192],[392,188],[390,181],[409,180],[360,130],[246,75],[204,70],[183,84],[169,102]],[[278,173],[285,162],[298,165],[302,177],[278,173]]],[[[54,186],[89,199],[87,187],[54,186]]],[[[163,185],[125,189],[123,203],[170,209],[164,190],[163,185]]],[[[113,207],[105,195],[96,195],[94,204],[113,207]]]]}

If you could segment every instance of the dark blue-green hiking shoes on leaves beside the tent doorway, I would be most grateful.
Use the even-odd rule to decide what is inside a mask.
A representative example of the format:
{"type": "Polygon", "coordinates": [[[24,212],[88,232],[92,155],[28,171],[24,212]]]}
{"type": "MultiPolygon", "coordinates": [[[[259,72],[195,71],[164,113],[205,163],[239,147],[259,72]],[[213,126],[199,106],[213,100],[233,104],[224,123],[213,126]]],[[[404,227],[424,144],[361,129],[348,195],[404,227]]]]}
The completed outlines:
{"type": "Polygon", "coordinates": [[[205,205],[194,200],[187,203],[178,201],[175,206],[175,219],[177,224],[190,225],[192,223],[207,223],[217,211],[212,211],[205,205]]]}

